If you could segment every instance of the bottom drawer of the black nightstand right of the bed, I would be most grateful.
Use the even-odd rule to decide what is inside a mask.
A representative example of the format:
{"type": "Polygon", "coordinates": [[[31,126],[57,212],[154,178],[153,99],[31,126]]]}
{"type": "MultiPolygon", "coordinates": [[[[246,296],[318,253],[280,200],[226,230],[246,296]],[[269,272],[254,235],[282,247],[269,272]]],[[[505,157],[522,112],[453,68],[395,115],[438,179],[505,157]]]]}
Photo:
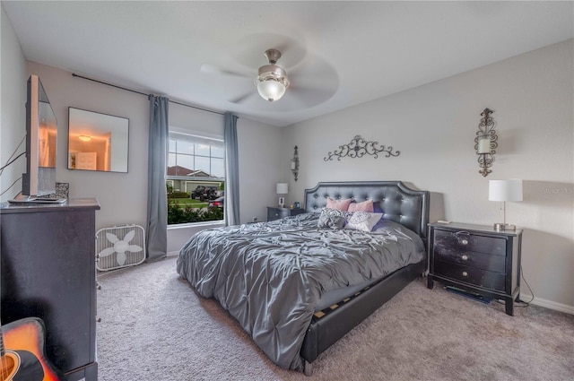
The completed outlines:
{"type": "Polygon", "coordinates": [[[456,281],[464,281],[486,289],[504,291],[504,273],[494,273],[474,267],[467,267],[460,264],[435,261],[434,273],[439,276],[451,278],[456,281]]]}

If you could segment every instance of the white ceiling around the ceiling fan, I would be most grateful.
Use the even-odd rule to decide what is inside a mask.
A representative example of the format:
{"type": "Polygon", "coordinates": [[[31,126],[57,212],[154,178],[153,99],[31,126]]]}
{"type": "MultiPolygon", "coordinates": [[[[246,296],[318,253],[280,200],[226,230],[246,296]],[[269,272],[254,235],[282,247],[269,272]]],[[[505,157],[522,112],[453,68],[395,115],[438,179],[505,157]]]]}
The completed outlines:
{"type": "Polygon", "coordinates": [[[30,61],[274,126],[574,37],[570,1],[2,4],[30,61]],[[291,79],[273,103],[267,48],[291,79]]]}

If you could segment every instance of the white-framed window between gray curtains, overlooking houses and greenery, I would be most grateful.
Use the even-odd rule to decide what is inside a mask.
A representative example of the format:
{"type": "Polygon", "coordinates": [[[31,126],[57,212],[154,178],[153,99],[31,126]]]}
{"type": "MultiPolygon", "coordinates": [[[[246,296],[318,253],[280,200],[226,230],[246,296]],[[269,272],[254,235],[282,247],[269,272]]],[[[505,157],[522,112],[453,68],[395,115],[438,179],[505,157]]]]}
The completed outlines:
{"type": "Polygon", "coordinates": [[[222,221],[223,140],[170,130],[168,224],[222,221]]]}

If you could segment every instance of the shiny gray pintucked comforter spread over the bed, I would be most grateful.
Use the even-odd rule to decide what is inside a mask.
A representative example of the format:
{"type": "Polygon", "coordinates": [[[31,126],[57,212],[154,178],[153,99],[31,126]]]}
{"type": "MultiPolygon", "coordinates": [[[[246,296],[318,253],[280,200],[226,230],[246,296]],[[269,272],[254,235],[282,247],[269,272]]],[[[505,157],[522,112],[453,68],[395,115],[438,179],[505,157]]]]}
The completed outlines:
{"type": "Polygon", "coordinates": [[[300,348],[329,290],[376,280],[424,255],[413,231],[380,221],[372,232],[319,229],[318,213],[207,229],[178,257],[178,273],[229,310],[282,368],[302,370],[300,348]]]}

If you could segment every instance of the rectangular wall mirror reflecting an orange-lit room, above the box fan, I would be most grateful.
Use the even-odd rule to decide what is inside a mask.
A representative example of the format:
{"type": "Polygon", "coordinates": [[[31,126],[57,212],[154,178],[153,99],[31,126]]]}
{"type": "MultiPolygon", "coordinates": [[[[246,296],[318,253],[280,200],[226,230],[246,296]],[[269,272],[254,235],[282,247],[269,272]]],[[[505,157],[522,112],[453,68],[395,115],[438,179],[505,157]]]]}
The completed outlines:
{"type": "Polygon", "coordinates": [[[127,172],[129,119],[68,111],[68,169],[127,172]]]}

